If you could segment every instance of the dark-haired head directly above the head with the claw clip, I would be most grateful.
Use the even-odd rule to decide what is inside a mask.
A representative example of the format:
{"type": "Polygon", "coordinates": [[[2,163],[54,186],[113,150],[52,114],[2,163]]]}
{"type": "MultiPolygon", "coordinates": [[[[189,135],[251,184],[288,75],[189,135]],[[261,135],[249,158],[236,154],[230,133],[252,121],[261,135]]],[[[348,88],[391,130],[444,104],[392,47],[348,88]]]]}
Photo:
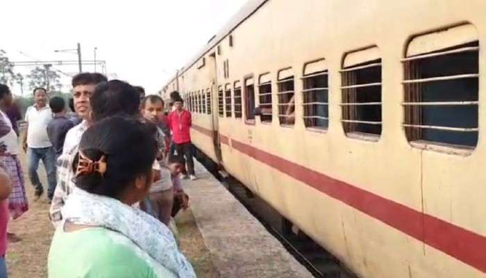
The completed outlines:
{"type": "Polygon", "coordinates": [[[114,115],[137,117],[140,112],[139,96],[137,90],[124,81],[99,83],[90,98],[93,122],[114,115]]]}

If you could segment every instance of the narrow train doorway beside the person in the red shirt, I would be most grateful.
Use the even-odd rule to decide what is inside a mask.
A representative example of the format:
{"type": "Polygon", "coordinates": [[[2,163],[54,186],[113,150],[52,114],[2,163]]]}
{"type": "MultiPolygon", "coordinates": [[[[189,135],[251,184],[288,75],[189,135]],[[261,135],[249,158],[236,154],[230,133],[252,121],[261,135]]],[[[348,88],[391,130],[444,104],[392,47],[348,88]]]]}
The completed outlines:
{"type": "Polygon", "coordinates": [[[219,138],[219,107],[218,107],[218,80],[217,80],[217,63],[216,52],[210,54],[208,65],[212,67],[212,83],[211,83],[211,122],[212,122],[212,144],[215,147],[215,154],[217,161],[215,161],[220,167],[223,165],[223,156],[221,155],[221,140],[219,138]]]}

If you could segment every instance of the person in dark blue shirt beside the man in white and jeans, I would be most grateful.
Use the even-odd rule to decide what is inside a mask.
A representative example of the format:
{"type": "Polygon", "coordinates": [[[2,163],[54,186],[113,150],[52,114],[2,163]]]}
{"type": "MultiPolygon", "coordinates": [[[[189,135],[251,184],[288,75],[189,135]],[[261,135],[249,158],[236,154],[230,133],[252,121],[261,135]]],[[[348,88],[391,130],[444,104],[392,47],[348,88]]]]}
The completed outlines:
{"type": "Polygon", "coordinates": [[[74,124],[66,117],[66,102],[62,97],[53,97],[49,101],[49,107],[54,114],[54,119],[47,125],[47,136],[49,136],[57,161],[62,154],[66,133],[74,124]]]}

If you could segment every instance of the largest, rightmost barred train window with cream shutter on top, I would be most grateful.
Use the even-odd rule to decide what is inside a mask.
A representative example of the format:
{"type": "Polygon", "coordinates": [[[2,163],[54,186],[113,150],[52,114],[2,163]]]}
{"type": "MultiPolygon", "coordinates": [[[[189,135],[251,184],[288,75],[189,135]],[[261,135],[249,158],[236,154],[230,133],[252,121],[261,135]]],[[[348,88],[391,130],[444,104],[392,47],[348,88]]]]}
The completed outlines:
{"type": "Polygon", "coordinates": [[[476,147],[478,59],[478,36],[471,24],[420,35],[410,41],[402,60],[403,126],[410,142],[476,147]]]}

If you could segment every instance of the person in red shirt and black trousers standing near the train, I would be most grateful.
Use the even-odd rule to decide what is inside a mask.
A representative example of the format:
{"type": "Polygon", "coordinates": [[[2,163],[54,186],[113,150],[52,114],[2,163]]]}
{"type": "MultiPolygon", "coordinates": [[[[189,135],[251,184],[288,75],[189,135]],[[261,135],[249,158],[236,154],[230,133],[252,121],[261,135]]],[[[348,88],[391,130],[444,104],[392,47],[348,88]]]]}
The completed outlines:
{"type": "MultiPolygon", "coordinates": [[[[196,179],[194,174],[194,161],[192,161],[192,143],[190,128],[192,125],[191,113],[185,110],[184,101],[181,97],[174,99],[174,111],[167,117],[167,126],[172,131],[172,142],[176,148],[177,154],[185,156],[187,163],[187,172],[192,180],[196,179]]],[[[187,178],[187,175],[185,175],[187,178]]]]}

